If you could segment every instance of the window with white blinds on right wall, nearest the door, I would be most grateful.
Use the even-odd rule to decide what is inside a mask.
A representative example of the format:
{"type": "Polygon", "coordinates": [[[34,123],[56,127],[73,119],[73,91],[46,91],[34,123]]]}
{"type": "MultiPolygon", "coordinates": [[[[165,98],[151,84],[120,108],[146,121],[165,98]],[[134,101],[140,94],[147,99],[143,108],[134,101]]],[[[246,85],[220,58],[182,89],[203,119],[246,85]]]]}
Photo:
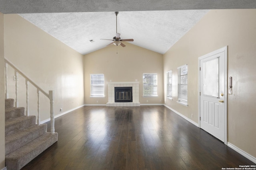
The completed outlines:
{"type": "Polygon", "coordinates": [[[188,65],[178,67],[178,103],[188,106],[188,65]]]}

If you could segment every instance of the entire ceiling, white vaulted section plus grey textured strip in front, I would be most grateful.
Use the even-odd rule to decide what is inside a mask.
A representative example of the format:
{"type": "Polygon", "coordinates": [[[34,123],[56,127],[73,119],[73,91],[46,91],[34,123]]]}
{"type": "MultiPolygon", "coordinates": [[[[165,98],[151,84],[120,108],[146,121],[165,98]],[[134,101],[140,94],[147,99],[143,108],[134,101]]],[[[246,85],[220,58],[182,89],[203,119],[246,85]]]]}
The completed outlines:
{"type": "Polygon", "coordinates": [[[100,39],[116,35],[115,11],[122,39],[132,38],[129,43],[164,54],[210,9],[243,8],[256,8],[256,1],[0,0],[0,12],[19,14],[81,54],[112,42],[100,39]]]}

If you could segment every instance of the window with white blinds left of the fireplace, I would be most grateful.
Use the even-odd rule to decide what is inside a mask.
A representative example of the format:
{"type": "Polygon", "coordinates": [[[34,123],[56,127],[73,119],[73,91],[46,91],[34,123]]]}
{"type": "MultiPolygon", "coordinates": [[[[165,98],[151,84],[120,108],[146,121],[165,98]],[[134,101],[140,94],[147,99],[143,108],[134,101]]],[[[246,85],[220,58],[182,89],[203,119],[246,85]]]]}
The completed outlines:
{"type": "Polygon", "coordinates": [[[104,96],[104,74],[91,74],[91,96],[104,96]]]}

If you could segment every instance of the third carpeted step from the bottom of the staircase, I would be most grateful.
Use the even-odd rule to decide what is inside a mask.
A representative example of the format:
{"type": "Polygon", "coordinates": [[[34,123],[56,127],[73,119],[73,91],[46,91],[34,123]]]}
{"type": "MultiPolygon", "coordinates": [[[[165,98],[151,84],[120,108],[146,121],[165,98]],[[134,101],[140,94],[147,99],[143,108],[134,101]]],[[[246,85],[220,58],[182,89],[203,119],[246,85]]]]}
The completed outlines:
{"type": "Polygon", "coordinates": [[[5,136],[36,124],[36,116],[21,116],[5,121],[5,136]]]}

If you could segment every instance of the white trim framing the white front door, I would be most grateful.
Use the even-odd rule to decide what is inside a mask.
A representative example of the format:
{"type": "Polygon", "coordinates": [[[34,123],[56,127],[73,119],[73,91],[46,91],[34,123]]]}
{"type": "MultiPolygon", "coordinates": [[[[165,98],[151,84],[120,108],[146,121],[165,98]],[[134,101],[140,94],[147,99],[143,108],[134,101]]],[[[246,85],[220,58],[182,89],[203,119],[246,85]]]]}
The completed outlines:
{"type": "Polygon", "coordinates": [[[200,122],[200,60],[210,57],[212,55],[222,53],[224,52],[224,77],[225,77],[225,88],[224,88],[224,144],[227,145],[227,126],[228,126],[228,119],[227,119],[227,108],[228,108],[228,46],[223,47],[221,49],[212,51],[211,53],[208,53],[206,55],[203,55],[198,58],[198,127],[201,128],[201,122],[200,122]]]}

